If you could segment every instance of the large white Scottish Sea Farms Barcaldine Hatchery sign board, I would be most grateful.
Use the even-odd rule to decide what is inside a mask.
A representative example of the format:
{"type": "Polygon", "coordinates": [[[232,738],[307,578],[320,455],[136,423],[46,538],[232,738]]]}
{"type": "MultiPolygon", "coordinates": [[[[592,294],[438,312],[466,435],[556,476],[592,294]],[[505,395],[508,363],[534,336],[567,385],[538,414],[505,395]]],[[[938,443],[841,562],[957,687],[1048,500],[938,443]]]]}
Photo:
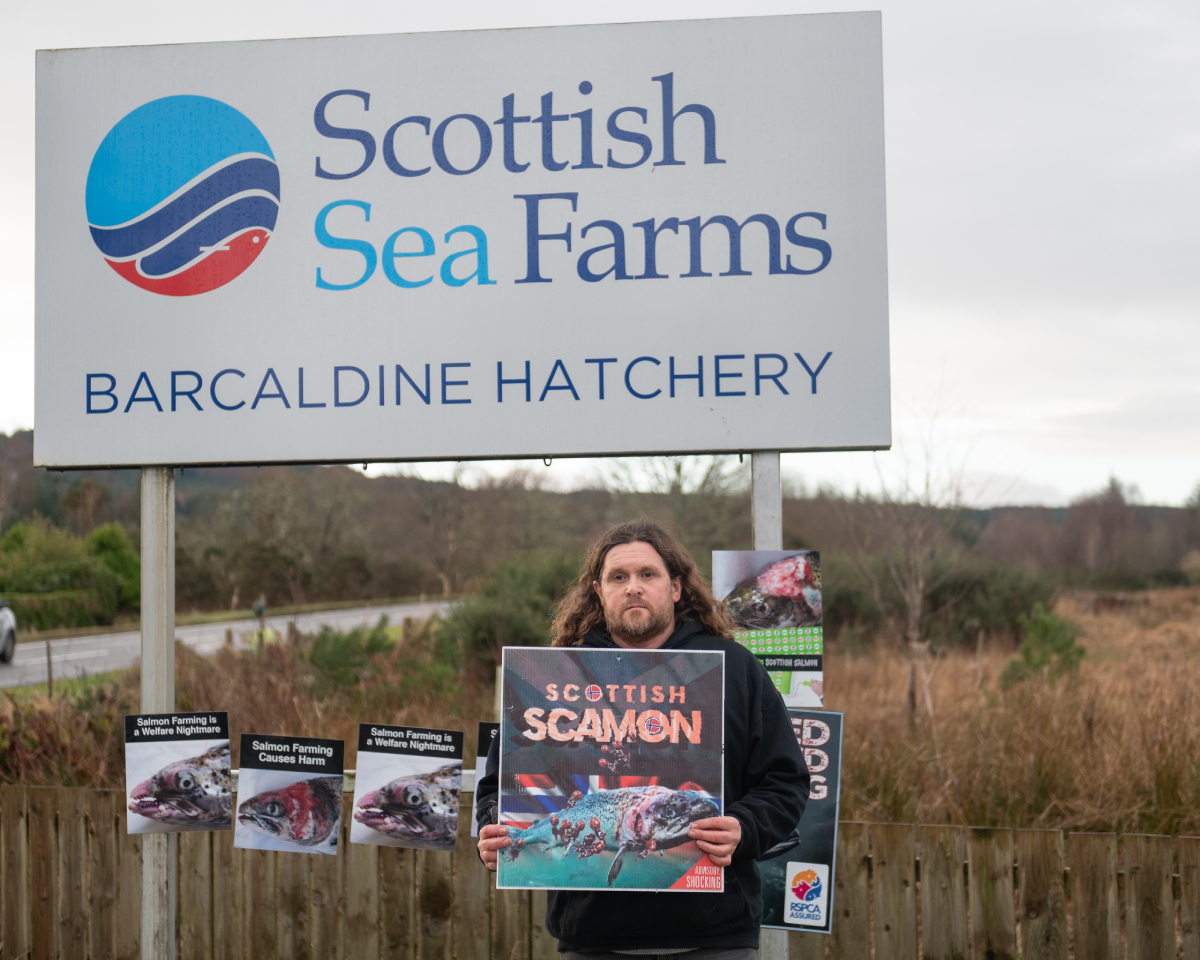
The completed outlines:
{"type": "Polygon", "coordinates": [[[890,444],[877,13],[41,52],[42,466],[890,444]]]}

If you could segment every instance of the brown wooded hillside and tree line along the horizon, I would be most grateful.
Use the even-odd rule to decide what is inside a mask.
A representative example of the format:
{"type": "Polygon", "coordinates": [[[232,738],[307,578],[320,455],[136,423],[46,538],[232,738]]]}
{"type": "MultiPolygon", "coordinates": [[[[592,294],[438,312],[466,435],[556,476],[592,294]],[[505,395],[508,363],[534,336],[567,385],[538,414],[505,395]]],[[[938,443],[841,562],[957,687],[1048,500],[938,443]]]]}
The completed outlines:
{"type": "MultiPolygon", "coordinates": [[[[547,475],[520,467],[502,476],[460,469],[438,481],[346,467],[185,470],[176,478],[179,610],[241,610],[259,598],[286,607],[487,594],[498,583],[545,594],[565,582],[544,576],[546,557],[572,558],[607,524],[638,514],[674,524],[706,572],[712,550],[751,545],[749,463],[736,456],[613,461],[568,492],[550,488],[547,475]]],[[[79,557],[95,553],[85,541],[101,528],[138,542],[136,470],[36,469],[32,433],[18,432],[0,436],[0,592],[29,592],[12,580],[25,564],[17,540],[29,535],[8,533],[30,523],[77,538],[79,557]]],[[[822,552],[830,640],[1015,641],[1019,618],[1063,587],[1200,581],[1198,506],[1195,497],[1183,508],[1142,505],[1115,479],[1066,508],[990,510],[920,490],[796,485],[785,492],[784,546],[822,552]]],[[[133,598],[120,602],[136,610],[133,598]]],[[[103,616],[115,614],[106,607],[103,616]]]]}

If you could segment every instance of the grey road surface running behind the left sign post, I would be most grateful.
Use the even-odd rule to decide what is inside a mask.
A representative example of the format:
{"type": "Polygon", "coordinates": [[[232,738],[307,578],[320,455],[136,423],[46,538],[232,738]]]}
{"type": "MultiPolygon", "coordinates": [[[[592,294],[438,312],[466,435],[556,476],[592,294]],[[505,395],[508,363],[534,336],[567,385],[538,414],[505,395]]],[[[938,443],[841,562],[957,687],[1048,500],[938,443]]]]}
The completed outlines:
{"type": "MultiPolygon", "coordinates": [[[[320,613],[301,613],[295,617],[295,622],[304,634],[314,634],[322,625],[344,631],[355,626],[373,626],[382,614],[388,614],[388,619],[395,625],[401,623],[404,617],[422,619],[440,613],[448,606],[446,601],[434,600],[426,604],[328,610],[320,613]]],[[[288,623],[292,619],[290,616],[282,614],[268,617],[266,629],[274,630],[280,636],[287,636],[288,623]]],[[[227,620],[224,623],[176,626],[175,636],[199,654],[214,654],[224,644],[226,630],[233,630],[235,647],[246,649],[252,635],[258,630],[258,620],[227,620]]],[[[137,630],[126,634],[102,634],[91,637],[18,643],[12,662],[0,664],[0,689],[46,683],[47,643],[50,647],[50,662],[55,680],[70,679],[83,673],[92,676],[124,670],[137,664],[142,654],[142,634],[137,630]]]]}

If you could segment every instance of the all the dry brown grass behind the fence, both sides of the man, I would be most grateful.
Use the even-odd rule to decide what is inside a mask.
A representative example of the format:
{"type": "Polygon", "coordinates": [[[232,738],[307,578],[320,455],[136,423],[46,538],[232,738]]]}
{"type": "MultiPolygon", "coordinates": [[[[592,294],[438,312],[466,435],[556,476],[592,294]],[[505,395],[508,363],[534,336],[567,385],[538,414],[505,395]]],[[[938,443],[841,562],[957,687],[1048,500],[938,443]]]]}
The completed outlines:
{"type": "MultiPolygon", "coordinates": [[[[1073,594],[1056,611],[1087,649],[1078,676],[1004,691],[1008,646],[931,658],[916,721],[901,650],[833,644],[842,818],[1200,833],[1200,589],[1073,594]]],[[[420,629],[336,683],[302,644],[212,659],[180,648],[178,706],[228,709],[238,732],[343,738],[350,767],[360,720],[462,728],[469,754],[475,720],[491,716],[491,671],[462,661],[420,629]]],[[[130,671],[53,700],[0,697],[0,781],[119,786],[121,714],[136,712],[137,690],[130,671]]],[[[234,751],[236,763],[236,739],[234,751]]]]}

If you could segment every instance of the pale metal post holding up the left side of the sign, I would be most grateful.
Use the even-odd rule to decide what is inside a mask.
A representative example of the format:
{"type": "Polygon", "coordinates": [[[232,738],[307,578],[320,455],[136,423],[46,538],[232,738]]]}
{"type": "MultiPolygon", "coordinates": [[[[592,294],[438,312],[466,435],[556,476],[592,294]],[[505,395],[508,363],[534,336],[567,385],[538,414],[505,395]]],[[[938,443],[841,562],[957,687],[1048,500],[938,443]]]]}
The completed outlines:
{"type": "MultiPolygon", "coordinates": [[[[175,709],[175,470],[142,468],[142,713],[175,709]]],[[[175,960],[175,834],[142,838],[142,955],[175,960]]]]}

